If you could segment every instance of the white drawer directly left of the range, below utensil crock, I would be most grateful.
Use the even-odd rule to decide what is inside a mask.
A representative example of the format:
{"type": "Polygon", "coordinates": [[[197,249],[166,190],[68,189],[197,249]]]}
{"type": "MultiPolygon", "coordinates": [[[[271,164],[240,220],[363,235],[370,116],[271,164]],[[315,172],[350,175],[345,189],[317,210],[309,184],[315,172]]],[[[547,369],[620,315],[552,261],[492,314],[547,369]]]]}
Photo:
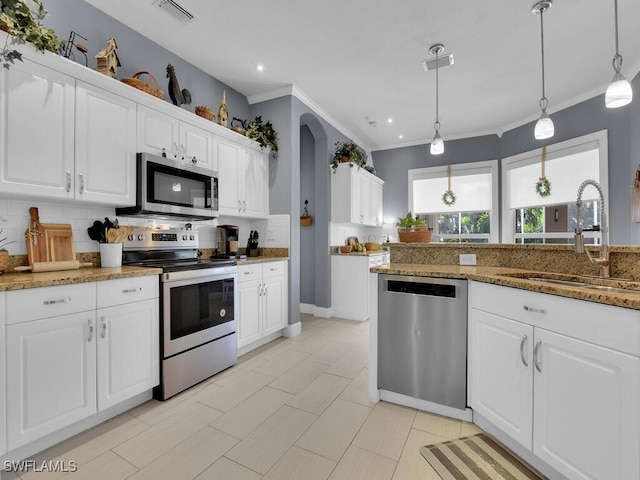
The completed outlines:
{"type": "Polygon", "coordinates": [[[118,278],[97,283],[98,308],[140,302],[158,298],[160,291],[157,275],[118,278]]]}

